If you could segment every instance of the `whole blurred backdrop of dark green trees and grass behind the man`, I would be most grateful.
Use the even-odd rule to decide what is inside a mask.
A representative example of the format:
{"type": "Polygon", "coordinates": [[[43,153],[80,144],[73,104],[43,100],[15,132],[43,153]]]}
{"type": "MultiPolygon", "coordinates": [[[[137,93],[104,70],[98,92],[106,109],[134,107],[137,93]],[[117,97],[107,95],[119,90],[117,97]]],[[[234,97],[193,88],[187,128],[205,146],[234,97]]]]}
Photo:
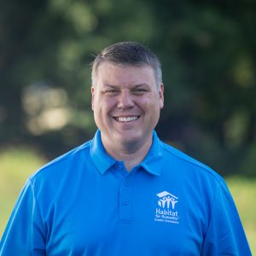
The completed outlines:
{"type": "Polygon", "coordinates": [[[255,26],[253,0],[0,0],[0,233],[28,174],[96,131],[93,56],[137,41],[162,63],[159,136],[226,178],[255,242],[255,26]]]}

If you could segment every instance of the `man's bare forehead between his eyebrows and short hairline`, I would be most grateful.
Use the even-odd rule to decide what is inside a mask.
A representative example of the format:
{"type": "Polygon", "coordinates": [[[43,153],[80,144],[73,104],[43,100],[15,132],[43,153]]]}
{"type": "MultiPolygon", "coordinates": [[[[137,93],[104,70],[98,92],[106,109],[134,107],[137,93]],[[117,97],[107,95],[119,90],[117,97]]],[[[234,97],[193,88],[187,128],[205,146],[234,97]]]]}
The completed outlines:
{"type": "Polygon", "coordinates": [[[151,66],[125,66],[109,61],[102,62],[98,67],[97,81],[99,84],[111,85],[156,84],[154,69],[151,66]]]}

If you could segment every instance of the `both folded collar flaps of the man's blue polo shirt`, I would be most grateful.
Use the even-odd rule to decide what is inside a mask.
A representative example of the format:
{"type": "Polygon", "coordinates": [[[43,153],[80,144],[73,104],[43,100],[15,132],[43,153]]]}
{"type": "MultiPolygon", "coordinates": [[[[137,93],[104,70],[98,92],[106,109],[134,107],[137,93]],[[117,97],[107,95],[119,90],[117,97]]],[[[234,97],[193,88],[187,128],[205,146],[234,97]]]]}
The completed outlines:
{"type": "MultiPolygon", "coordinates": [[[[159,137],[157,137],[156,132],[153,131],[151,148],[145,159],[138,166],[143,167],[145,171],[153,175],[160,176],[163,152],[163,143],[160,141],[159,137]]],[[[117,160],[114,160],[103,147],[100,130],[96,131],[96,135],[90,143],[90,157],[102,174],[108,171],[108,169],[117,162],[117,160]]]]}

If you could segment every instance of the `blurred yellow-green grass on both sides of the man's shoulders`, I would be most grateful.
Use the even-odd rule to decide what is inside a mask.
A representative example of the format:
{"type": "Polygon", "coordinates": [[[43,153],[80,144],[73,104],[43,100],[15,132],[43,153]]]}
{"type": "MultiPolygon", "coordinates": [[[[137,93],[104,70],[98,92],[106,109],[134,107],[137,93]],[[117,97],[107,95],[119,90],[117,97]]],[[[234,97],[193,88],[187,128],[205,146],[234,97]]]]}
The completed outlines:
{"type": "MultiPolygon", "coordinates": [[[[32,148],[0,150],[0,237],[26,178],[46,160],[32,148]]],[[[256,179],[228,177],[226,181],[236,202],[253,255],[256,255],[256,179]]]]}

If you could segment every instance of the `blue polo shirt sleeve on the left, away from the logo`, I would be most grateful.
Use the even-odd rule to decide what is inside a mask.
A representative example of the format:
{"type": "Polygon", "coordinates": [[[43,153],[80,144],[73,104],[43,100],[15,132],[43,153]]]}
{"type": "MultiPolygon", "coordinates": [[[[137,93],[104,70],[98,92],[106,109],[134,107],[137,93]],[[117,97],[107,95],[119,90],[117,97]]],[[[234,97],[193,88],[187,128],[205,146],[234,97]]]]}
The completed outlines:
{"type": "Polygon", "coordinates": [[[44,225],[32,182],[27,180],[0,243],[0,255],[45,255],[44,225]]]}

